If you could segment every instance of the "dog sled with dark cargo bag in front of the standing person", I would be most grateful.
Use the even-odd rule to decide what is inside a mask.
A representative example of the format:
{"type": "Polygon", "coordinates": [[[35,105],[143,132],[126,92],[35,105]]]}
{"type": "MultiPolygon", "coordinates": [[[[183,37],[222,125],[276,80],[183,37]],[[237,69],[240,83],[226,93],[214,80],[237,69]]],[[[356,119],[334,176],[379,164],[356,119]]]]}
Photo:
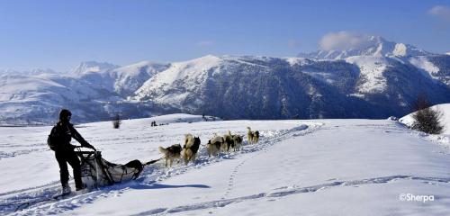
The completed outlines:
{"type": "Polygon", "coordinates": [[[81,159],[81,179],[85,188],[93,189],[102,186],[127,182],[139,177],[144,169],[159,159],[142,163],[131,160],[125,165],[111,163],[102,157],[101,151],[81,151],[76,154],[81,159]]]}

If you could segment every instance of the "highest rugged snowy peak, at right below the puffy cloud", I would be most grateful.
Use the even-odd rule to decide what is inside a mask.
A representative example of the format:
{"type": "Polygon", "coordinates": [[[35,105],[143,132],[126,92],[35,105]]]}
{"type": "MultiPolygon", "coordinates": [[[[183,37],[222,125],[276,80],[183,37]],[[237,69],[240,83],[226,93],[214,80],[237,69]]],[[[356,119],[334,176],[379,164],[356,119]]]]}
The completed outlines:
{"type": "MultiPolygon", "coordinates": [[[[341,39],[342,40],[342,39],[341,39]]],[[[312,53],[301,53],[298,57],[320,59],[344,59],[353,56],[410,57],[428,56],[431,53],[405,43],[385,40],[380,36],[358,36],[355,41],[342,41],[343,45],[332,44],[312,53]]],[[[331,43],[331,42],[329,42],[331,43]]]]}

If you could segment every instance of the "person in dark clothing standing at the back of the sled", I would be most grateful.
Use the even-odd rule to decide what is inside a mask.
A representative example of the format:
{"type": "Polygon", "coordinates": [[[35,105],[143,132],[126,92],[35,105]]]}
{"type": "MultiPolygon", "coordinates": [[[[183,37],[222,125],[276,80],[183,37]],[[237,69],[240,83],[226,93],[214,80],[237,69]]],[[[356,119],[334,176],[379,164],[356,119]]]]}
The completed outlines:
{"type": "Polygon", "coordinates": [[[71,191],[70,186],[68,185],[67,163],[72,166],[74,171],[76,191],[83,189],[80,160],[74,151],[76,147],[70,144],[70,140],[74,138],[82,147],[95,150],[95,148],[83,139],[78,131],[75,130],[74,125],[70,123],[71,116],[72,113],[68,110],[61,110],[61,112],[59,112],[59,121],[53,129],[51,129],[47,141],[49,148],[55,151],[55,157],[58,161],[62,194],[70,193],[71,191]]]}

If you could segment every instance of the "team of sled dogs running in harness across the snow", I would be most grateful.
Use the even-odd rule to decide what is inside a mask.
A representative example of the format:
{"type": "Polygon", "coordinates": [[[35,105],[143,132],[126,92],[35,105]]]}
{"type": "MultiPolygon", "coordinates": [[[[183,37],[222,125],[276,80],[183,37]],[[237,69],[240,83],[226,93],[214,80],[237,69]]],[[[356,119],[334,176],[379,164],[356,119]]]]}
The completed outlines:
{"type": "MultiPolygon", "coordinates": [[[[223,136],[214,133],[214,136],[206,144],[208,157],[217,156],[220,152],[229,152],[229,149],[233,149],[233,151],[240,150],[242,140],[243,136],[231,134],[229,130],[223,136]]],[[[252,131],[250,127],[247,127],[247,143],[256,144],[258,141],[259,131],[252,131]]],[[[183,148],[180,144],[174,144],[167,148],[159,147],[159,151],[163,154],[163,158],[166,159],[166,166],[172,166],[175,159],[179,162],[181,158],[184,159],[184,164],[187,165],[189,161],[195,160],[198,149],[200,148],[200,142],[199,137],[194,137],[189,133],[184,136],[183,148]]]]}

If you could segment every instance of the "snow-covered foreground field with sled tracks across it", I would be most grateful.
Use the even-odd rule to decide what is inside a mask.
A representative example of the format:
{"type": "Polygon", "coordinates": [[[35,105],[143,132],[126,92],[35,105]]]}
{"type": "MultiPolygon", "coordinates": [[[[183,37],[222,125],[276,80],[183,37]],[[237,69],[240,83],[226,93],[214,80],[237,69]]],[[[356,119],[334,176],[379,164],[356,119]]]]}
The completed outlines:
{"type": "Polygon", "coordinates": [[[194,164],[158,162],[135,181],[58,202],[36,202],[60,190],[58,165],[45,143],[50,128],[0,128],[0,214],[450,214],[450,150],[398,121],[157,118],[169,124],[150,127],[155,119],[140,119],[123,121],[119,130],[111,122],[77,130],[115,163],[158,158],[158,146],[192,133],[202,139],[194,164]],[[259,143],[208,158],[204,143],[214,132],[244,135],[247,126],[261,132],[259,143]],[[412,195],[422,201],[409,201],[412,195]]]}

